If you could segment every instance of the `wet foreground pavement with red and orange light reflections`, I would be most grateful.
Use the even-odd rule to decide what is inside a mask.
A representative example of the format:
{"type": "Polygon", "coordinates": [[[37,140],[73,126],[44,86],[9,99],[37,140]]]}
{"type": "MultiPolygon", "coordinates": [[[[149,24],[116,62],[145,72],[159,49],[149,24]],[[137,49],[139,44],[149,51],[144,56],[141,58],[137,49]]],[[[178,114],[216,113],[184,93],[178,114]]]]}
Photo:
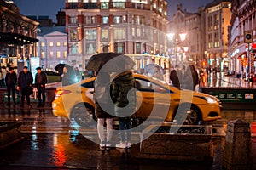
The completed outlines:
{"type": "MultiPolygon", "coordinates": [[[[221,170],[224,138],[213,138],[213,162],[184,162],[137,159],[139,144],[131,150],[112,148],[102,151],[99,145],[81,134],[75,141],[67,133],[24,133],[20,144],[1,151],[0,167],[12,169],[172,169],[221,170]]],[[[253,157],[256,139],[253,138],[253,157]]],[[[114,141],[113,144],[118,141],[114,141]]],[[[254,169],[256,162],[254,161],[254,169]]]]}

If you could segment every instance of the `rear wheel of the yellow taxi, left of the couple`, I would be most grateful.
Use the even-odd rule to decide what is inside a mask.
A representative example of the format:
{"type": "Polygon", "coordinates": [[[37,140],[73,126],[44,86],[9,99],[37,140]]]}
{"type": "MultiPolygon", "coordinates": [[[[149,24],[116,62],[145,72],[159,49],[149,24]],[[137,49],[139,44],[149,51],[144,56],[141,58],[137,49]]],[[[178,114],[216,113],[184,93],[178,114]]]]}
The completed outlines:
{"type": "Polygon", "coordinates": [[[73,107],[70,119],[80,127],[87,127],[90,126],[90,123],[96,118],[94,116],[94,109],[91,105],[80,103],[73,107]]]}

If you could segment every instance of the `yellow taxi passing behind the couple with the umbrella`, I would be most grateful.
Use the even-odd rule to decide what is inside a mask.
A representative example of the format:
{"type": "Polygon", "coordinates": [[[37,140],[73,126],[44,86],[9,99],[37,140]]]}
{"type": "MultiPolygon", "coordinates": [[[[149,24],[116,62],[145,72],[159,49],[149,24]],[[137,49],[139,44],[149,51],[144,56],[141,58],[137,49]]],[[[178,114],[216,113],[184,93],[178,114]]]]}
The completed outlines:
{"type": "MultiPolygon", "coordinates": [[[[178,89],[153,77],[140,74],[134,74],[134,77],[137,82],[137,111],[134,116],[142,120],[180,120],[186,124],[197,124],[221,118],[222,106],[212,95],[178,89]]],[[[93,101],[95,79],[92,77],[57,88],[52,102],[54,115],[73,118],[81,126],[96,119],[93,101]]]]}

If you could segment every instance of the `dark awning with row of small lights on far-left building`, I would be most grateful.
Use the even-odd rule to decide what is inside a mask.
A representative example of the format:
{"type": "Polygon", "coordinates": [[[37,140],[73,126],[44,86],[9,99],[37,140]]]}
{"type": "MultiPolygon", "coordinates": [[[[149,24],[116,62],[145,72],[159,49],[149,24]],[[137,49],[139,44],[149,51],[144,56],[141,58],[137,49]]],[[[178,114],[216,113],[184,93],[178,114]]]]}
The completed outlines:
{"type": "Polygon", "coordinates": [[[0,42],[6,42],[8,44],[24,45],[38,42],[38,39],[23,36],[17,33],[0,32],[0,42]]]}

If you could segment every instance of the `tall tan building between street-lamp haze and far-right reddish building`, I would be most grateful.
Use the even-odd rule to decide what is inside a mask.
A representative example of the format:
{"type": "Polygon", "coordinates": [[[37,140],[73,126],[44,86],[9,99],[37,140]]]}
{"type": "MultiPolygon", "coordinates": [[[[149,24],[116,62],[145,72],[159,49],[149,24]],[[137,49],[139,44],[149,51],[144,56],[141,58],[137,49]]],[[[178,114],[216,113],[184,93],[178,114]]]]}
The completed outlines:
{"type": "Polygon", "coordinates": [[[217,71],[230,64],[228,34],[231,19],[230,0],[215,0],[205,7],[207,65],[217,71]]]}

